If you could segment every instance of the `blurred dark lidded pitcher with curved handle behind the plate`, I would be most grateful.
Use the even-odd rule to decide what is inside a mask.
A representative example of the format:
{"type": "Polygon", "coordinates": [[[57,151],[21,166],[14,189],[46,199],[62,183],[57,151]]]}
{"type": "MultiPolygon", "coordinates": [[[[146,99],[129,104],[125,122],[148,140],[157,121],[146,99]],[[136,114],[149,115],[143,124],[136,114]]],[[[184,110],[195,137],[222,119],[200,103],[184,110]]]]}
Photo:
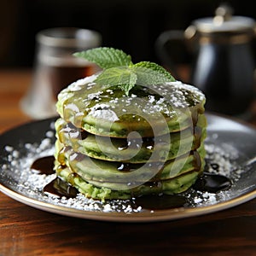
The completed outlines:
{"type": "Polygon", "coordinates": [[[229,7],[221,6],[215,17],[195,20],[184,32],[163,32],[156,41],[156,49],[160,61],[172,69],[175,63],[167,45],[172,47],[171,43],[177,40],[189,45],[195,54],[190,83],[206,94],[206,108],[241,114],[255,96],[251,45],[254,33],[253,19],[232,16],[229,7]]]}

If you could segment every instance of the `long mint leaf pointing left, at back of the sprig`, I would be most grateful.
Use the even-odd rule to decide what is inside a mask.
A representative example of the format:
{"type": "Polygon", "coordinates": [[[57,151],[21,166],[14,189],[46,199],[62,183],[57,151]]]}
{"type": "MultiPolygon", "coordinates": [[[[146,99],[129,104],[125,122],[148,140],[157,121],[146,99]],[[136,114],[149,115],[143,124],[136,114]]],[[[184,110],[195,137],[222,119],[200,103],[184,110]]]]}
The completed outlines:
{"type": "Polygon", "coordinates": [[[126,55],[121,49],[98,47],[77,52],[73,55],[94,62],[103,69],[132,65],[131,56],[126,55]]]}

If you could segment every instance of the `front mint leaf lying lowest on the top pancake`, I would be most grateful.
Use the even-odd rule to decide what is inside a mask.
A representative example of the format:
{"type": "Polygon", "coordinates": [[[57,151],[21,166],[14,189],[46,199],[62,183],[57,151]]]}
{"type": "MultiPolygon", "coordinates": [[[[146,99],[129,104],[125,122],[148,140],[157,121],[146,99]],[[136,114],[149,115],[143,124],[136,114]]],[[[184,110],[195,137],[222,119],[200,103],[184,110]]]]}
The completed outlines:
{"type": "Polygon", "coordinates": [[[128,95],[137,82],[137,75],[129,67],[111,67],[103,71],[95,82],[104,88],[119,86],[128,95]]]}

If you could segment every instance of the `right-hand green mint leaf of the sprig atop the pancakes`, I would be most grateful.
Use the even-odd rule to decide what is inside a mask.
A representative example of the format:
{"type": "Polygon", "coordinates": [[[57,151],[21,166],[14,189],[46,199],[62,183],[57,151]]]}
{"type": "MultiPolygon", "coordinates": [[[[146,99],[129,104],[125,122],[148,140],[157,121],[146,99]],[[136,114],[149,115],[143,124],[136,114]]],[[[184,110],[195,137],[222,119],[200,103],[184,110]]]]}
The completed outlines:
{"type": "Polygon", "coordinates": [[[175,79],[164,67],[148,61],[132,65],[132,70],[137,74],[137,84],[151,85],[173,82],[175,79]]]}

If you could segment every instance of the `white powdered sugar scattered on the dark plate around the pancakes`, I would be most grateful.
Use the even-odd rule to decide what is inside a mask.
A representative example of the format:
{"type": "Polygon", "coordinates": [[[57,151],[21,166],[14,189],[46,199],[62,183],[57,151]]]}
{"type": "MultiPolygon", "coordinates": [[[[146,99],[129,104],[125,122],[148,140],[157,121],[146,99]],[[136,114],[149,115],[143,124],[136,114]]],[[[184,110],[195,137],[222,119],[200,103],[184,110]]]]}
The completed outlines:
{"type": "MultiPolygon", "coordinates": [[[[113,201],[95,201],[93,199],[85,198],[84,195],[78,194],[75,198],[67,198],[65,196],[58,197],[55,195],[46,195],[43,193],[44,186],[55,178],[55,174],[42,175],[32,172],[30,166],[32,162],[39,157],[52,155],[55,153],[54,131],[46,131],[45,137],[40,143],[24,143],[20,148],[26,149],[26,154],[20,154],[20,148],[15,148],[10,145],[5,146],[4,163],[2,165],[2,172],[0,172],[0,179],[8,183],[10,189],[18,191],[22,195],[33,198],[38,201],[44,201],[61,207],[69,207],[84,211],[93,212],[125,212],[137,213],[148,211],[140,206],[134,204],[132,200],[113,200],[113,201]]],[[[214,135],[212,138],[214,140],[214,135]]],[[[216,135],[216,137],[218,137],[216,135]]],[[[214,172],[229,177],[232,183],[236,183],[245,172],[242,166],[236,163],[239,159],[239,152],[235,147],[228,143],[216,145],[207,141],[207,172],[214,172]]],[[[188,200],[186,207],[205,207],[215,205],[219,202],[230,199],[230,192],[221,191],[218,193],[209,193],[189,189],[183,193],[188,200]]],[[[154,212],[154,211],[151,211],[154,212]]]]}

